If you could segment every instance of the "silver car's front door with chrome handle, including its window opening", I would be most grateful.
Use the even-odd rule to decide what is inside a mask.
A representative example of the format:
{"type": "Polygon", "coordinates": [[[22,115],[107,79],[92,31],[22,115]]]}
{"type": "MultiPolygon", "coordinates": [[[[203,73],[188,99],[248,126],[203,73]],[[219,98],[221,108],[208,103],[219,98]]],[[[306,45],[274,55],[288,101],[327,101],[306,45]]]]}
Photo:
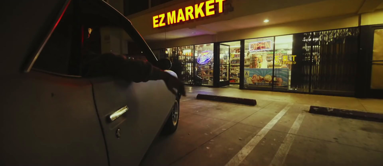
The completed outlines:
{"type": "MultiPolygon", "coordinates": [[[[89,8],[89,10],[82,9],[83,30],[89,30],[85,35],[85,42],[89,41],[84,44],[87,46],[86,49],[91,48],[93,52],[98,53],[122,54],[122,50],[126,49],[124,48],[126,45],[123,46],[124,40],[142,46],[142,43],[130,37],[129,34],[132,32],[124,31],[129,28],[134,30],[133,26],[124,27],[118,21],[113,22],[121,19],[129,22],[121,14],[117,12],[121,18],[116,19],[105,11],[107,6],[99,8],[100,6],[95,3],[84,6],[89,8]],[[110,22],[113,27],[108,25],[110,22]]],[[[138,34],[135,30],[134,33],[138,34]]],[[[131,51],[129,49],[128,53],[131,51]]],[[[146,56],[153,56],[147,57],[148,60],[155,59],[153,54],[146,56]]],[[[140,72],[140,70],[137,68],[126,72],[140,72]]],[[[105,135],[110,166],[138,165],[169,117],[175,95],[167,89],[162,80],[135,83],[113,77],[91,77],[90,81],[105,135]]]]}

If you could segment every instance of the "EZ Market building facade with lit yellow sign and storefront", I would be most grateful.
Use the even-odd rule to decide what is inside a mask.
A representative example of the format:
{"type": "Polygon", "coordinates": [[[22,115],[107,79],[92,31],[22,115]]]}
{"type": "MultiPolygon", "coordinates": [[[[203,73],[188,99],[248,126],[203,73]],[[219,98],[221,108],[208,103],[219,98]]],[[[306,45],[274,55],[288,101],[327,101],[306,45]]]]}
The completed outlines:
{"type": "Polygon", "coordinates": [[[383,96],[383,0],[173,0],[127,18],[185,84],[383,96]]]}

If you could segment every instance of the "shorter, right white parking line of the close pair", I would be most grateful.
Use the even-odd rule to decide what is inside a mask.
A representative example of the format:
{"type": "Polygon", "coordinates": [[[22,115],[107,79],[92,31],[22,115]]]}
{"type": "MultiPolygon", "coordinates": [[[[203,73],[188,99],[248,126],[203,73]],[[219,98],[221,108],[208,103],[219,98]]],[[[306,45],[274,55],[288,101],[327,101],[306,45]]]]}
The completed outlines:
{"type": "Polygon", "coordinates": [[[293,123],[293,126],[291,126],[290,130],[288,131],[288,134],[285,137],[285,140],[283,140],[283,143],[281,146],[279,146],[279,149],[277,153],[275,154],[273,160],[271,161],[270,165],[272,166],[282,166],[283,163],[285,163],[286,156],[288,154],[288,151],[290,151],[290,147],[294,142],[295,134],[298,132],[299,127],[301,126],[301,123],[304,118],[304,112],[301,112],[298,117],[296,117],[295,122],[293,123]]]}

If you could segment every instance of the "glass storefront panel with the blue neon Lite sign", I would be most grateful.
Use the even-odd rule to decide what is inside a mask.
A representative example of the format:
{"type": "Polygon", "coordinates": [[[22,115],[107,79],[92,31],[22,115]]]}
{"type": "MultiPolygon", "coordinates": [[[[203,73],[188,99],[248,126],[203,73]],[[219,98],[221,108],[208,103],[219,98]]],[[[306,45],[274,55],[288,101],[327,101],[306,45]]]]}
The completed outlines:
{"type": "Polygon", "coordinates": [[[213,85],[214,44],[194,46],[195,85],[213,85]]]}

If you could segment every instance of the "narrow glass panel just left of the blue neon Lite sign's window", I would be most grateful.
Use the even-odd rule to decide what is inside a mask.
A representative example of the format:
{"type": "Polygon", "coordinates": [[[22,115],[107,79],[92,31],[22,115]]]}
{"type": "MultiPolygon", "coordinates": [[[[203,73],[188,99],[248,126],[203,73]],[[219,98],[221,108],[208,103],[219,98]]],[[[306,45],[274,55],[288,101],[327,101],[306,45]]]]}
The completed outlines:
{"type": "Polygon", "coordinates": [[[173,62],[180,68],[179,79],[186,84],[193,84],[193,55],[194,46],[178,47],[178,59],[173,62]]]}

